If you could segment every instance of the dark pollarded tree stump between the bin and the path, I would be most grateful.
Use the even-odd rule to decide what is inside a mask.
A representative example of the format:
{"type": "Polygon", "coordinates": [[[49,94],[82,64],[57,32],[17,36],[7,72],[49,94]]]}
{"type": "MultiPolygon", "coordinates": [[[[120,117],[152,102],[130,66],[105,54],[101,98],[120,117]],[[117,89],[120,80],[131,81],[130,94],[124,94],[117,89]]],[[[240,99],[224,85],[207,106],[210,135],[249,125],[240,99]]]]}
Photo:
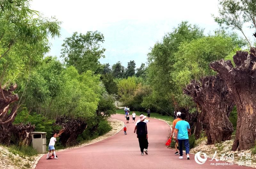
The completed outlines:
{"type": "Polygon", "coordinates": [[[60,142],[64,146],[74,146],[77,136],[86,129],[87,123],[80,119],[71,119],[66,116],[58,117],[56,124],[64,128],[64,132],[60,135],[60,142]]]}

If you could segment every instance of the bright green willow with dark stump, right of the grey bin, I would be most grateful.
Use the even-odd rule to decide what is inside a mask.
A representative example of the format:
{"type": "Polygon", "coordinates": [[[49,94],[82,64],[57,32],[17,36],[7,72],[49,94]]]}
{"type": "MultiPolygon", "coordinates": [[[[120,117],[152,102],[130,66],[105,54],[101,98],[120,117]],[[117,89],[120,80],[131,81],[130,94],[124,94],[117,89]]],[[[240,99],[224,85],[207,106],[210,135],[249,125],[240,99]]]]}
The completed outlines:
{"type": "Polygon", "coordinates": [[[100,115],[97,108],[104,86],[100,83],[99,75],[94,75],[90,70],[80,75],[73,66],[63,71],[62,81],[61,92],[52,100],[47,116],[56,119],[56,124],[64,128],[60,142],[72,146],[88,121],[95,122],[97,115],[100,115]]]}

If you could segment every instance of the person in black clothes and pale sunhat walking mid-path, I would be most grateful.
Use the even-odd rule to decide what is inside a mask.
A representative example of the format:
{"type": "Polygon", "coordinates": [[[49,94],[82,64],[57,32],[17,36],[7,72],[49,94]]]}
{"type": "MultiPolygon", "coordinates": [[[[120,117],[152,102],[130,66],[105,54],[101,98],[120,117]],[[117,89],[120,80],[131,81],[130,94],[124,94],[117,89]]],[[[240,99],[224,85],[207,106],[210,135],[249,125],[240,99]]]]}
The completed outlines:
{"type": "Polygon", "coordinates": [[[148,154],[148,129],[147,123],[143,122],[146,116],[140,115],[140,122],[137,124],[137,138],[140,144],[141,155],[148,154]]]}

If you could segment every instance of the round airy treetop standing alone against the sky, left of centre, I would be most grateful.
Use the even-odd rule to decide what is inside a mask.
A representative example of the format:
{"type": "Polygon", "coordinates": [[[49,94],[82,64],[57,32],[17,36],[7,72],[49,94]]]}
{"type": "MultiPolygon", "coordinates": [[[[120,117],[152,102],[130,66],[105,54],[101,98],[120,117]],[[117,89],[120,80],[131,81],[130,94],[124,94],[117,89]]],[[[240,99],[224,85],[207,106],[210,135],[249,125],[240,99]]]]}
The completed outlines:
{"type": "Polygon", "coordinates": [[[64,40],[61,57],[80,74],[87,70],[95,72],[100,66],[99,59],[105,57],[106,49],[101,47],[103,42],[104,36],[98,31],[88,31],[86,34],[75,32],[64,40]]]}

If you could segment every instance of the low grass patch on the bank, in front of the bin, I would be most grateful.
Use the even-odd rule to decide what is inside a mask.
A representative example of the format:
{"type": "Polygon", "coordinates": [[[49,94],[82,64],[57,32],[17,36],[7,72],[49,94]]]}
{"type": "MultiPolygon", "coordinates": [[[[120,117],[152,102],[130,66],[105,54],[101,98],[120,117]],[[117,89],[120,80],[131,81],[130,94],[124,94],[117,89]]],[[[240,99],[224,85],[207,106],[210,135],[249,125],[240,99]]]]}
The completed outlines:
{"type": "Polygon", "coordinates": [[[19,154],[19,156],[22,158],[25,158],[27,156],[35,156],[38,154],[36,149],[34,149],[32,146],[11,145],[7,147],[7,149],[14,155],[19,154]]]}

